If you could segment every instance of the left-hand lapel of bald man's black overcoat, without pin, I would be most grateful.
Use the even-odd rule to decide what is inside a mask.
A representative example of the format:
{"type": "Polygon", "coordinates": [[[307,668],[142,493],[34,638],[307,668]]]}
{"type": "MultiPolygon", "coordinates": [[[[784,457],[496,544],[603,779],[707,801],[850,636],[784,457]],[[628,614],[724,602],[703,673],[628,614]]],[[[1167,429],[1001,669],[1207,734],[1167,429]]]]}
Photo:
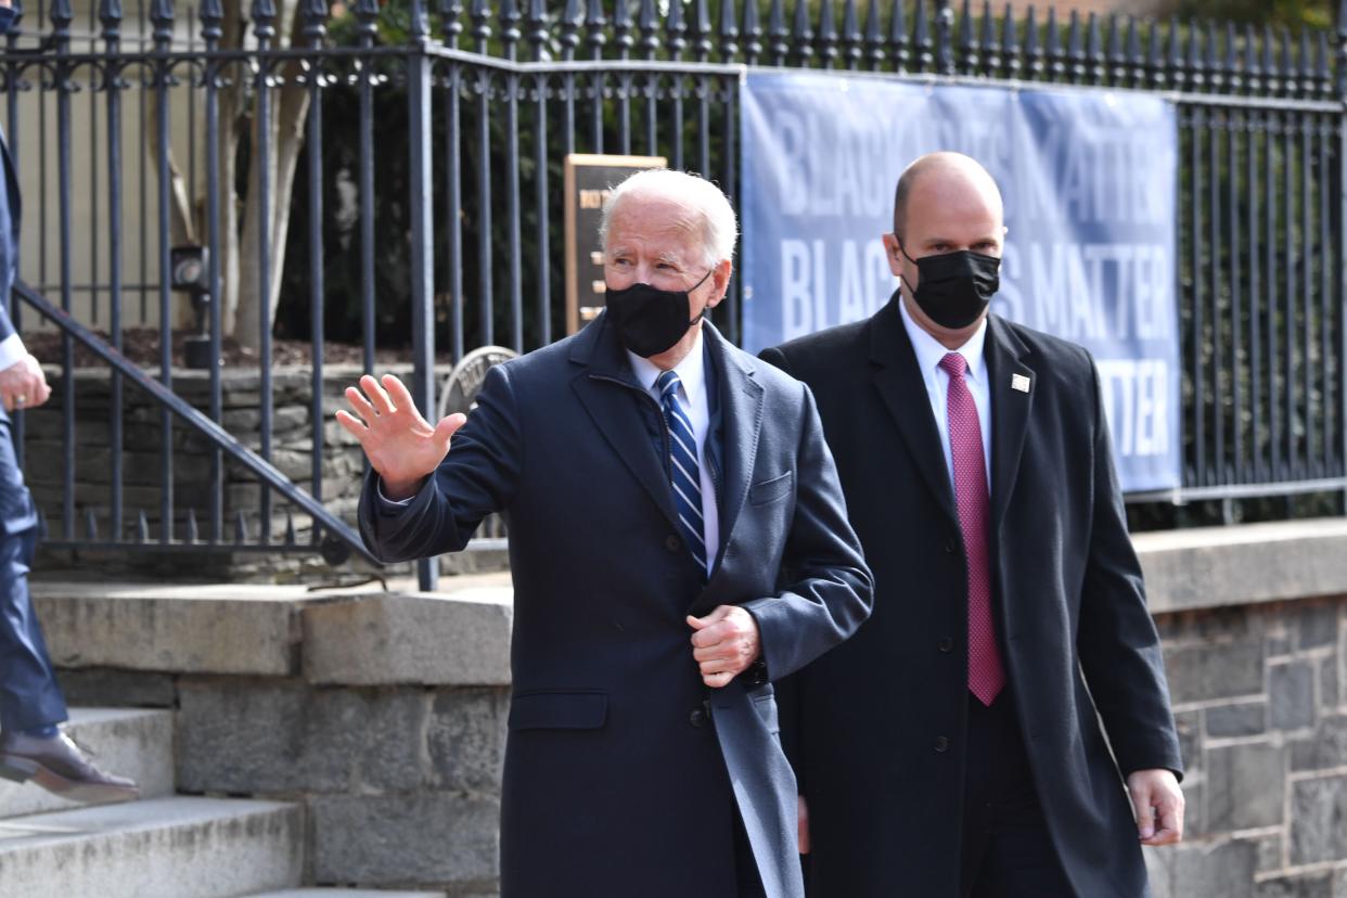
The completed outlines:
{"type": "Polygon", "coordinates": [[[925,381],[917,366],[912,341],[902,326],[898,314],[898,295],[894,293],[888,306],[870,319],[870,361],[874,362],[874,386],[880,390],[885,407],[898,425],[908,451],[916,462],[921,479],[931,489],[936,504],[955,524],[959,513],[954,504],[954,489],[950,486],[950,469],[944,462],[944,448],[940,446],[940,431],[936,429],[927,399],[925,381]]]}

